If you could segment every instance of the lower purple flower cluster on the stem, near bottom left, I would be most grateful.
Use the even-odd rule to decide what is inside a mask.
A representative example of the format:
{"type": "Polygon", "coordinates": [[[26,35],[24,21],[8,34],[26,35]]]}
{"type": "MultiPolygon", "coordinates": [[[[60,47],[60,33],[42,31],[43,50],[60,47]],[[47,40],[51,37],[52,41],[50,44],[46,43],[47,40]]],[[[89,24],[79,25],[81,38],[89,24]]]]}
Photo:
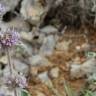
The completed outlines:
{"type": "Polygon", "coordinates": [[[26,77],[23,74],[18,74],[16,76],[8,76],[5,78],[5,83],[8,86],[13,87],[20,87],[20,88],[26,88],[27,87],[27,80],[26,77]]]}

